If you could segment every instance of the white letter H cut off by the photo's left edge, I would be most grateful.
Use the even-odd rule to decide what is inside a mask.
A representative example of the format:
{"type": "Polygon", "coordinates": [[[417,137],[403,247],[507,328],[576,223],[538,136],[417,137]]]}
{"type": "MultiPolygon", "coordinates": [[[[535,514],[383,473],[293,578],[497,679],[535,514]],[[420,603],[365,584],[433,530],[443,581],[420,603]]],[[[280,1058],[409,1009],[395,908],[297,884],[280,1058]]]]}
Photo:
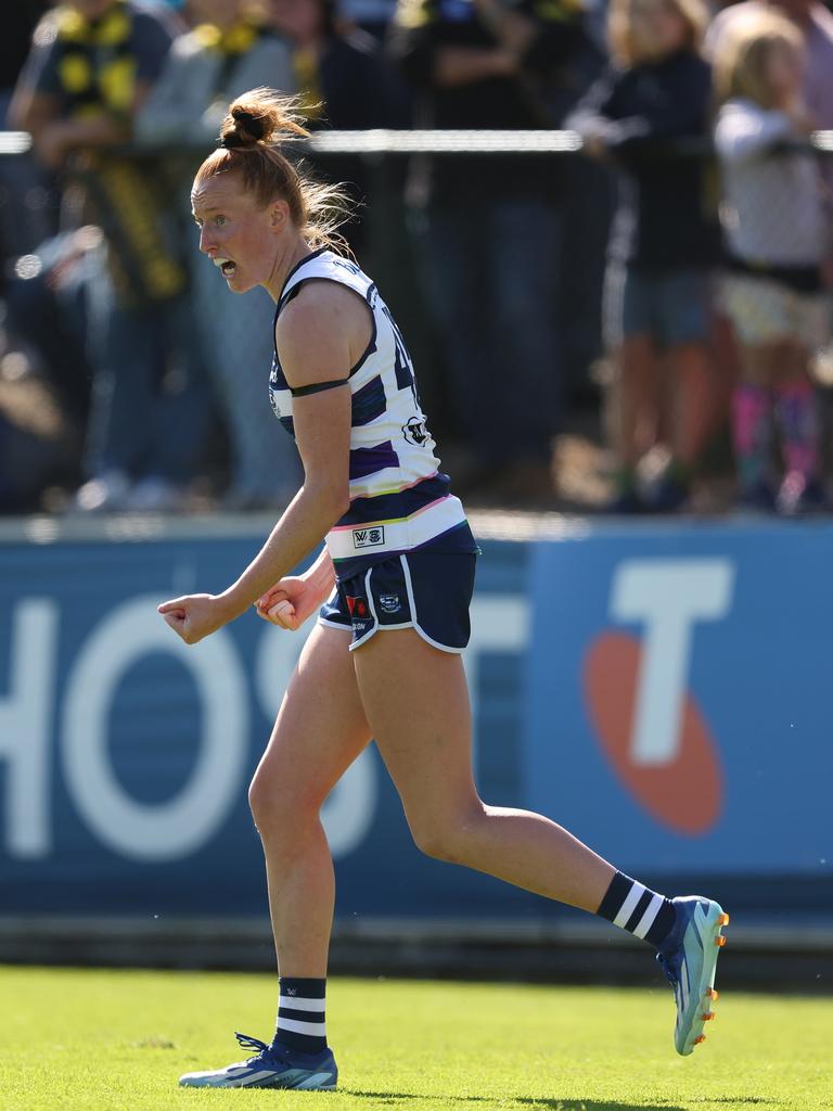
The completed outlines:
{"type": "Polygon", "coordinates": [[[7,850],[12,857],[46,857],[49,820],[49,734],[54,698],[58,608],[30,598],[13,611],[9,697],[0,699],[0,760],[6,774],[7,850]]]}

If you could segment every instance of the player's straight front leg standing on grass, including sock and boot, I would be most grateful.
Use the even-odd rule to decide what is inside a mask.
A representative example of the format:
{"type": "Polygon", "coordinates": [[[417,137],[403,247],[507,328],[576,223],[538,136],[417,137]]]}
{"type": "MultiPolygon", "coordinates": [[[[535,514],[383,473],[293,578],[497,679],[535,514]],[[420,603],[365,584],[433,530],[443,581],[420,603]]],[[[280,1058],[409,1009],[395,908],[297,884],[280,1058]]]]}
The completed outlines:
{"type": "Polygon", "coordinates": [[[199,1088],[332,1089],[338,1070],[327,1045],[324,982],[335,884],[321,825],[324,799],[370,734],[348,644],[350,632],[318,625],[290,680],[249,798],[263,842],[278,969],[278,1030],[247,1061],[189,1073],[199,1088]]]}

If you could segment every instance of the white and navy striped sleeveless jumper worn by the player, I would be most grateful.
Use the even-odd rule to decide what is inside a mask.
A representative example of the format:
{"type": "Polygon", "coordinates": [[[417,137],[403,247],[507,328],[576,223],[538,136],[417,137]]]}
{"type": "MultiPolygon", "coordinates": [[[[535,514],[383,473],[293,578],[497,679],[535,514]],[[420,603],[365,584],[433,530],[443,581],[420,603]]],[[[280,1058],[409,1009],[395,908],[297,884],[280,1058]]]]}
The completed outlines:
{"type": "MultiPolygon", "coordinates": [[[[350,509],[327,536],[337,577],[350,578],[414,549],[476,551],[462,503],[440,473],[402,333],[370,278],[330,250],[308,254],[287,278],[275,323],[312,279],[353,290],[370,308],[373,324],[368,349],[350,371],[350,509]]],[[[294,436],[293,391],[277,349],[269,392],[275,416],[294,436]]]]}

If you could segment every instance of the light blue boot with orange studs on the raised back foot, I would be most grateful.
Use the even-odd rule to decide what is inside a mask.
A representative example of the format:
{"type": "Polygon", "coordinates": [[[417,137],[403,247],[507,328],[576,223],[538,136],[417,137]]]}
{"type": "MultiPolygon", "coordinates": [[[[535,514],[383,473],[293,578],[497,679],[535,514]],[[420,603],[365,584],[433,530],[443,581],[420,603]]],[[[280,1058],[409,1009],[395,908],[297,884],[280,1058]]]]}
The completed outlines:
{"type": "Polygon", "coordinates": [[[705,1041],[703,1027],[714,1018],[717,1000],[714,972],[717,955],[726,943],[721,930],[729,923],[729,914],[720,903],[703,895],[671,901],[676,910],[676,924],[656,960],[674,989],[674,1045],[678,1053],[688,1057],[705,1041]]]}

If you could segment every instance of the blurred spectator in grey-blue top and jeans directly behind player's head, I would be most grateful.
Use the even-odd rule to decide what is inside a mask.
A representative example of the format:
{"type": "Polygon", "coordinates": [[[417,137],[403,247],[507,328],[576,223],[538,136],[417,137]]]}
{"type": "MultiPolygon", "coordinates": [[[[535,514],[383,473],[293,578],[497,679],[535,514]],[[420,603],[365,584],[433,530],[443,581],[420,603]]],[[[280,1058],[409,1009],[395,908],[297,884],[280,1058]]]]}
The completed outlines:
{"type": "MultiPolygon", "coordinates": [[[[244,0],[191,0],[188,13],[195,27],[174,42],[139,113],[141,141],[181,149],[202,140],[209,147],[217,141],[230,101],[240,93],[260,86],[295,88],[285,40],[254,18],[244,0]]],[[[274,306],[261,289],[235,297],[197,249],[190,189],[202,153],[194,150],[193,158],[175,162],[174,200],[169,207],[189,229],[194,327],[231,441],[232,474],[224,504],[241,510],[279,506],[298,488],[299,463],[294,446],[275,433],[265,392],[274,306]],[[253,403],[258,398],[262,404],[253,403]]]]}

